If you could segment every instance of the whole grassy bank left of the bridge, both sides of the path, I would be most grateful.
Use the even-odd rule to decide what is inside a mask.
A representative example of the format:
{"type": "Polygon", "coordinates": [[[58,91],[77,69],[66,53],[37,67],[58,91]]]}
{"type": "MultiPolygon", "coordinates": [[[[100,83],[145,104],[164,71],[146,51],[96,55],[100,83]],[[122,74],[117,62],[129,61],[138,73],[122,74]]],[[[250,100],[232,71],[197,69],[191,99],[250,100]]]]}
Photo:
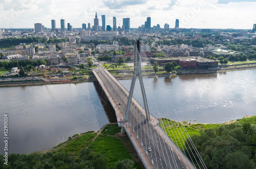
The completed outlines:
{"type": "MultiPolygon", "coordinates": [[[[93,141],[97,133],[88,132],[87,134],[80,135],[78,138],[70,141],[66,146],[63,146],[55,151],[71,153],[75,156],[80,155],[82,148],[89,147],[92,153],[101,153],[108,158],[108,168],[114,168],[118,160],[129,158],[135,162],[134,167],[144,168],[137,156],[136,151],[127,135],[119,136],[121,128],[117,125],[106,126],[101,134],[93,141]],[[93,142],[92,142],[93,141],[93,142]]],[[[76,135],[74,135],[76,136],[76,135]]],[[[74,137],[73,136],[73,137],[74,137]]],[[[61,146],[59,144],[59,146],[61,146]]]]}

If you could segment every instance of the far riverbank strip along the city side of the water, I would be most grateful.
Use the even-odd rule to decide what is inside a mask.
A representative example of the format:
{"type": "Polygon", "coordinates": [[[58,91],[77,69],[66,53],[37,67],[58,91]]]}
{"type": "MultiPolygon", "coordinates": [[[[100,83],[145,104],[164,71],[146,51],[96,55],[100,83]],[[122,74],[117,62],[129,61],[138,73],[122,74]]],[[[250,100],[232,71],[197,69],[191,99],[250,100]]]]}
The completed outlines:
{"type": "MultiPolygon", "coordinates": [[[[163,73],[163,74],[157,74],[158,77],[172,77],[172,76],[179,76],[179,75],[191,75],[191,74],[215,74],[215,73],[221,73],[225,71],[236,71],[236,70],[248,70],[248,69],[256,69],[256,66],[236,66],[236,67],[230,67],[230,68],[220,68],[220,69],[208,69],[208,70],[178,70],[177,75],[173,73],[163,73]]],[[[115,77],[118,80],[125,80],[125,79],[131,79],[131,78],[124,78],[124,76],[116,76],[115,77]]],[[[84,83],[84,82],[93,82],[96,81],[96,78],[86,78],[86,79],[43,79],[42,81],[26,81],[26,82],[5,82],[0,83],[0,87],[17,87],[17,86],[38,86],[38,85],[46,85],[46,84],[66,84],[66,83],[84,83]],[[55,82],[56,81],[56,82],[55,82]]]]}

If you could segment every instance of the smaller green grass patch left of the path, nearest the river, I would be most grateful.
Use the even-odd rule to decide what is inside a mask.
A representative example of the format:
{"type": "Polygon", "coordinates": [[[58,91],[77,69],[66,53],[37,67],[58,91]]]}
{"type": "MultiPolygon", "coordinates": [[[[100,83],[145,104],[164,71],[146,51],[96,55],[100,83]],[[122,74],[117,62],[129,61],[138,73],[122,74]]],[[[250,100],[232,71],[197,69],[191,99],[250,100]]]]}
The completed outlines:
{"type": "Polygon", "coordinates": [[[86,148],[96,136],[95,134],[84,134],[75,140],[70,141],[66,146],[57,150],[57,152],[71,153],[75,152],[74,155],[80,155],[80,150],[86,148]]]}

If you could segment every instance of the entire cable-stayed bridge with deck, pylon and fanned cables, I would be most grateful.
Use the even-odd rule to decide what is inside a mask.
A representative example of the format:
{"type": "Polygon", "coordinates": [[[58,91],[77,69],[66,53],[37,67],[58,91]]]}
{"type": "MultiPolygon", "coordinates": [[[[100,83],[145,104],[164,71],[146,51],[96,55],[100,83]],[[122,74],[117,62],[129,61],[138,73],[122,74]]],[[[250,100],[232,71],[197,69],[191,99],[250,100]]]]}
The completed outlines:
{"type": "MultiPolygon", "coordinates": [[[[139,41],[136,42],[134,49],[134,54],[127,57],[126,60],[128,62],[126,64],[130,66],[122,73],[127,78],[132,78],[132,83],[126,81],[125,83],[130,84],[121,84],[101,65],[93,70],[99,82],[99,88],[106,94],[115,110],[118,125],[122,127],[121,132],[126,132],[129,136],[145,168],[206,168],[181,123],[169,121],[168,125],[176,128],[171,131],[159,126],[162,123],[159,116],[161,112],[171,112],[173,107],[168,103],[168,97],[165,98],[164,94],[163,99],[168,103],[165,110],[163,105],[156,104],[154,96],[150,97],[153,99],[147,98],[146,95],[150,95],[150,91],[146,91],[144,79],[157,81],[157,76],[141,50],[139,41]],[[141,96],[137,97],[138,94],[141,96]],[[179,132],[181,130],[183,132],[179,132]],[[176,134],[178,139],[170,138],[167,134],[176,134]],[[184,140],[179,139],[182,135],[188,138],[185,142],[189,142],[185,149],[180,150],[177,146],[179,142],[183,141],[185,144],[184,140]],[[196,161],[196,163],[192,161],[196,161]]],[[[177,116],[177,113],[170,114],[177,116]]],[[[174,117],[170,116],[169,118],[174,117]]]]}

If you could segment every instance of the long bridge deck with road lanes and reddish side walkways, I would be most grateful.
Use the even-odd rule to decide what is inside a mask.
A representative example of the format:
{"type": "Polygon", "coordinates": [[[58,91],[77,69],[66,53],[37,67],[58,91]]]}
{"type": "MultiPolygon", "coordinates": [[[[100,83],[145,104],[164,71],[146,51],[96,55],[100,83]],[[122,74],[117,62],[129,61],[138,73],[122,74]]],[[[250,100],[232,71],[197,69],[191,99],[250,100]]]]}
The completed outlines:
{"type": "Polygon", "coordinates": [[[151,115],[150,121],[146,120],[143,107],[134,98],[127,122],[122,123],[129,91],[102,66],[94,69],[93,73],[116,112],[119,126],[124,127],[146,168],[195,168],[158,126],[154,116],[151,115]],[[152,151],[148,152],[147,148],[152,151]]]}

